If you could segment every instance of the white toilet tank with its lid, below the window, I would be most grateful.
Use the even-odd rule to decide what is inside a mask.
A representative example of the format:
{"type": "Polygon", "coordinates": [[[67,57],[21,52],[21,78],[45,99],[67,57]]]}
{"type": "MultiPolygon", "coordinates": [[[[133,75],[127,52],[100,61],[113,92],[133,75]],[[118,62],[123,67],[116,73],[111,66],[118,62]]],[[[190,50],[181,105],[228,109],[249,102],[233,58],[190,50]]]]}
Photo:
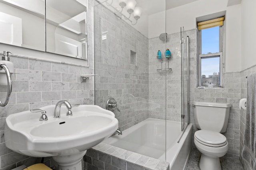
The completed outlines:
{"type": "Polygon", "coordinates": [[[194,102],[193,107],[198,129],[226,132],[231,104],[194,102]]]}

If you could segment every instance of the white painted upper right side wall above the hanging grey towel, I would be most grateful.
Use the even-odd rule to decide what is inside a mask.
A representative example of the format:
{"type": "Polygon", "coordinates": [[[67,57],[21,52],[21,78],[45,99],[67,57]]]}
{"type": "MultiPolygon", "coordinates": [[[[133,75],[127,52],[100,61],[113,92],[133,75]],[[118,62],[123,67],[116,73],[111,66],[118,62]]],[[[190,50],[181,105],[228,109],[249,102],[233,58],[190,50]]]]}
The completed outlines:
{"type": "Polygon", "coordinates": [[[242,70],[256,64],[256,1],[242,0],[242,70]]]}

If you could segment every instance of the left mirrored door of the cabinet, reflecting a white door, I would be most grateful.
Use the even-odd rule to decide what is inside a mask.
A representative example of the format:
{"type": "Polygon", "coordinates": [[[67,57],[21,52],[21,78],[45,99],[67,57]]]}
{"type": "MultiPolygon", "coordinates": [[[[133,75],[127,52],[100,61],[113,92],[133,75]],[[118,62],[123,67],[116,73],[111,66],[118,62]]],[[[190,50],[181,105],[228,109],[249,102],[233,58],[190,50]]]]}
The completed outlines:
{"type": "Polygon", "coordinates": [[[0,0],[0,43],[45,51],[44,0],[0,0]]]}

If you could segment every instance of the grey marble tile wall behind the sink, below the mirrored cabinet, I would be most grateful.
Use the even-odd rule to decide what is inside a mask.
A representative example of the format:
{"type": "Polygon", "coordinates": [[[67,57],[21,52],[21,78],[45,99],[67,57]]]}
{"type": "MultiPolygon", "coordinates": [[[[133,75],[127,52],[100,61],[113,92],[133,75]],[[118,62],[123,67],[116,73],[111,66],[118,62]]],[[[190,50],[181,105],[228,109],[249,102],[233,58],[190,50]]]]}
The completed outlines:
{"type": "MultiPolygon", "coordinates": [[[[70,104],[94,104],[94,78],[86,83],[80,82],[80,75],[92,74],[92,68],[16,55],[12,55],[11,61],[15,72],[12,75],[12,95],[9,104],[0,107],[0,170],[10,170],[38,160],[6,148],[4,123],[8,115],[56,104],[59,100],[68,100],[70,104]]],[[[5,100],[6,86],[0,86],[0,92],[1,101],[5,100]]]]}

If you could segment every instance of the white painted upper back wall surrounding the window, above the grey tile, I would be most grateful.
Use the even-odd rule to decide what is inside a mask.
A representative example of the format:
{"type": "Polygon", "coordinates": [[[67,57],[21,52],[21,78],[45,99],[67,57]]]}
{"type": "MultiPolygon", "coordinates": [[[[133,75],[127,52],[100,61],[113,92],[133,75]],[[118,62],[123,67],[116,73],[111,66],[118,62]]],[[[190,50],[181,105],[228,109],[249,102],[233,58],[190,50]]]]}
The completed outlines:
{"type": "MultiPolygon", "coordinates": [[[[252,0],[251,0],[252,1],[252,0]]],[[[166,11],[166,33],[196,28],[196,18],[226,11],[226,67],[225,72],[241,70],[241,12],[240,4],[227,7],[228,0],[198,0],[166,11]]],[[[165,12],[149,16],[148,38],[165,32],[165,12]],[[157,26],[156,26],[157,25],[157,26]]]]}

